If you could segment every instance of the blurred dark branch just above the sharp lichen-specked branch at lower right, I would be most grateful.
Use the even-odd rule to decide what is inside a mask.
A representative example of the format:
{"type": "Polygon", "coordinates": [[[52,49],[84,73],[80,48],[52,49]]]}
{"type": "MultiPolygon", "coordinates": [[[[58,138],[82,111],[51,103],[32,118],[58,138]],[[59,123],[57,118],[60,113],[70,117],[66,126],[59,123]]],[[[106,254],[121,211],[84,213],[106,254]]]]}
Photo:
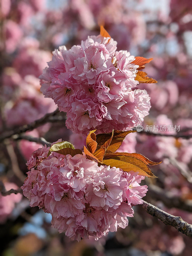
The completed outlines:
{"type": "Polygon", "coordinates": [[[168,208],[178,208],[183,211],[192,212],[192,200],[183,200],[155,185],[148,186],[148,195],[150,194],[152,199],[163,202],[168,208]]]}

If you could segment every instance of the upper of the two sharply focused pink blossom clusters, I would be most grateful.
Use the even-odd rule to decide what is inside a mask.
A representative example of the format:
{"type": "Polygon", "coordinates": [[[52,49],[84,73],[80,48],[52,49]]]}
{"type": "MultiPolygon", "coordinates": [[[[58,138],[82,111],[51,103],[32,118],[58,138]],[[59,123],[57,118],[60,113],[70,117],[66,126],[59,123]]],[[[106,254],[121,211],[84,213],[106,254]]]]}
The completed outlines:
{"type": "Polygon", "coordinates": [[[116,44],[99,35],[70,50],[60,46],[40,76],[41,91],[67,112],[66,125],[73,132],[123,131],[148,115],[150,98],[136,89],[139,66],[130,52],[116,51],[116,44]]]}

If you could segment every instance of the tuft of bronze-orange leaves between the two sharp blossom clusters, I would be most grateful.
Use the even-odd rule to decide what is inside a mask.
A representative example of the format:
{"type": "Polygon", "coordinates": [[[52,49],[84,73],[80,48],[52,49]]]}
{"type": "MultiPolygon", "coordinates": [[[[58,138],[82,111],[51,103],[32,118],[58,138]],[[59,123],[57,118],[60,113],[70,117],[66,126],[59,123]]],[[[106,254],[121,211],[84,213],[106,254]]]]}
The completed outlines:
{"type": "Polygon", "coordinates": [[[89,133],[86,140],[87,148],[84,147],[84,153],[88,159],[97,162],[99,166],[106,164],[120,168],[124,172],[134,171],[147,177],[155,176],[148,165],[160,163],[150,161],[139,153],[115,152],[121,146],[126,135],[136,131],[112,131],[97,135],[95,135],[95,131],[89,133]]]}

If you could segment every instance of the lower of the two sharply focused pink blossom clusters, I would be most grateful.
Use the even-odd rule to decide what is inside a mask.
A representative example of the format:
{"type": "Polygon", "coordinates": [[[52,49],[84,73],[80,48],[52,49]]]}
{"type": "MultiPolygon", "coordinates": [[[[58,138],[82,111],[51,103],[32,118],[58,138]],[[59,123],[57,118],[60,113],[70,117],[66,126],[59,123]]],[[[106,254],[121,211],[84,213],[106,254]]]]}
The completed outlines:
{"type": "Polygon", "coordinates": [[[128,225],[132,205],[142,204],[147,186],[143,176],[110,166],[98,167],[84,155],[66,155],[49,148],[37,149],[27,165],[28,177],[23,189],[30,206],[39,206],[52,214],[52,225],[59,232],[81,240],[96,240],[117,227],[128,225]]]}

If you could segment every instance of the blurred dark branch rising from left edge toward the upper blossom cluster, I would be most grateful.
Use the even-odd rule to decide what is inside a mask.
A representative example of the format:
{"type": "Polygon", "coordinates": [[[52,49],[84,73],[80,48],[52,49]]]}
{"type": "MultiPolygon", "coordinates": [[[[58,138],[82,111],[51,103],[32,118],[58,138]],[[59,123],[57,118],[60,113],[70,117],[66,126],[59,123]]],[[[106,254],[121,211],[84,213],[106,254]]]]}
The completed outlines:
{"type": "Polygon", "coordinates": [[[4,132],[0,136],[0,142],[7,139],[7,138],[12,137],[14,134],[21,134],[23,132],[31,131],[31,130],[33,130],[33,129],[35,129],[35,128],[37,128],[37,127],[39,127],[39,126],[41,126],[45,123],[55,122],[55,120],[52,119],[52,116],[55,116],[58,113],[59,113],[59,110],[56,109],[54,112],[48,113],[45,116],[43,116],[42,118],[37,119],[36,121],[34,121],[30,124],[25,124],[23,126],[20,126],[18,128],[13,129],[13,130],[4,132]]]}

